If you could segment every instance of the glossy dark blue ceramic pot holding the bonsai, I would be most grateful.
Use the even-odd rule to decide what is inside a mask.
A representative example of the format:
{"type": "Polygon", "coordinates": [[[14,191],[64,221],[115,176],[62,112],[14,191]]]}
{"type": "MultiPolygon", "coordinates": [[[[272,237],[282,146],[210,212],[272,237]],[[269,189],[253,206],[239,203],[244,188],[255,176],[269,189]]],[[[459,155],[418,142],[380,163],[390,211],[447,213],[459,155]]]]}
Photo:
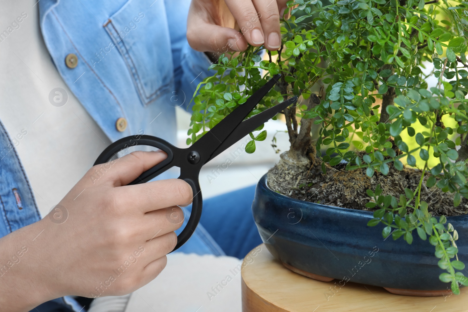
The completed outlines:
{"type": "MultiPolygon", "coordinates": [[[[444,271],[428,240],[419,239],[416,231],[411,245],[402,237],[383,239],[383,225],[367,226],[372,212],[278,194],[267,187],[266,174],[257,185],[252,210],[268,250],[300,274],[428,293],[450,287],[439,280],[444,271]]],[[[459,260],[468,265],[468,215],[447,221],[459,233],[459,260]]]]}

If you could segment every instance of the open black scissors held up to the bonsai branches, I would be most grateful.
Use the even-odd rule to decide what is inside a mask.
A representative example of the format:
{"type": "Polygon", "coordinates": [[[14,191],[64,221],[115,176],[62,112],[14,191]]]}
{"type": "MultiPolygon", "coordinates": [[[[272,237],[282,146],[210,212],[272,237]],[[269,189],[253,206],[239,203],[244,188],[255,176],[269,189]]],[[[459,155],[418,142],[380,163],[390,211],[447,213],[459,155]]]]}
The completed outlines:
{"type": "Polygon", "coordinates": [[[271,87],[278,83],[280,76],[280,74],[273,76],[271,80],[252,94],[245,103],[234,109],[188,148],[178,148],[161,138],[149,135],[134,135],[121,138],[109,145],[101,155],[99,155],[94,165],[108,162],[123,149],[129,146],[135,146],[135,142],[136,145],[153,146],[168,154],[165,160],[146,170],[128,185],[145,183],[171,167],[180,168],[180,176],[178,179],[182,179],[190,184],[194,196],[190,218],[183,231],[177,236],[177,245],[174,248],[174,250],[176,250],[190,238],[200,221],[203,201],[200,185],[198,183],[198,175],[200,174],[201,167],[219,155],[220,152],[223,152],[229,146],[267,122],[270,118],[276,116],[280,111],[297,102],[298,98],[294,96],[285,102],[281,102],[255,116],[245,119],[250,111],[254,109],[268,91],[270,91],[271,87]]]}

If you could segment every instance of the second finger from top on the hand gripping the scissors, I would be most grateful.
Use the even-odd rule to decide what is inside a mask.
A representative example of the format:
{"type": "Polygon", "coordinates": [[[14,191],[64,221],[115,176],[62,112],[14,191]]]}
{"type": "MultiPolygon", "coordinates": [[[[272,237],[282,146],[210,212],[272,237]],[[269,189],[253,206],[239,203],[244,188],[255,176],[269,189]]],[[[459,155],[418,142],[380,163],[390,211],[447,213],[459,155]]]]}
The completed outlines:
{"type": "Polygon", "coordinates": [[[182,206],[192,202],[190,185],[181,179],[152,181],[126,185],[115,192],[115,202],[120,207],[135,207],[145,213],[161,208],[182,206]]]}

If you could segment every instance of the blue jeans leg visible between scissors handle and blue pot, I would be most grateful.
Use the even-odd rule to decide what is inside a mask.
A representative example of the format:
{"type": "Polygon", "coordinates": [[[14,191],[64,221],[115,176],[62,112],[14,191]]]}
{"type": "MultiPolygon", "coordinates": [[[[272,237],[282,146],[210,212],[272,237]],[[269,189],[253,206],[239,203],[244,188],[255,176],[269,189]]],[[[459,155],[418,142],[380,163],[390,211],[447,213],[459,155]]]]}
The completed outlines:
{"type": "MultiPolygon", "coordinates": [[[[254,194],[253,185],[204,200],[197,230],[176,252],[228,255],[242,259],[262,243],[252,217],[254,194]]],[[[185,227],[190,216],[191,207],[183,209],[186,216],[177,234],[185,227]]]]}

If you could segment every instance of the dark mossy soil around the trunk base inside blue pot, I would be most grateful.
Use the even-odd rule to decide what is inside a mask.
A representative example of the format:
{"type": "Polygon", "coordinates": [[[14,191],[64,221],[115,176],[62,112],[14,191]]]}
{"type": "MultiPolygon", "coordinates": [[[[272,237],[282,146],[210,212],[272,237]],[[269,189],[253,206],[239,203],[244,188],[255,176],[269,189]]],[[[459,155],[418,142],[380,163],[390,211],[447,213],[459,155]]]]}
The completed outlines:
{"type": "MultiPolygon", "coordinates": [[[[366,190],[375,190],[377,184],[383,189],[382,195],[393,195],[397,199],[404,194],[404,189],[415,190],[421,179],[421,171],[405,167],[398,171],[390,165],[387,176],[375,172],[372,178],[366,175],[366,169],[347,171],[343,165],[327,166],[327,174],[323,174],[321,163],[315,162],[297,166],[288,161],[285,154],[281,160],[268,172],[268,186],[286,196],[321,203],[336,207],[367,210],[366,203],[370,201],[366,190]]],[[[458,207],[453,207],[452,193],[444,193],[437,187],[428,189],[424,177],[421,190],[421,201],[429,205],[433,215],[456,216],[468,213],[468,200],[462,197],[458,207]]],[[[414,204],[414,201],[413,201],[414,204]]]]}

